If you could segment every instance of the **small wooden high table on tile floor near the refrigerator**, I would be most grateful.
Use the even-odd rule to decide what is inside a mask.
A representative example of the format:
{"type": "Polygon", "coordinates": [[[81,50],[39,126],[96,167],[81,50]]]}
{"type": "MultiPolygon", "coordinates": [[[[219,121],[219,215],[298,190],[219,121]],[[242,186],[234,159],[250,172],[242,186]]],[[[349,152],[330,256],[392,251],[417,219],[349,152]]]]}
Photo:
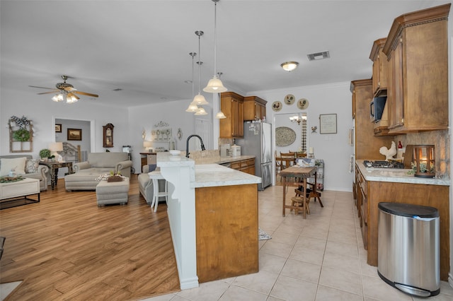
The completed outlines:
{"type": "Polygon", "coordinates": [[[309,177],[314,177],[314,187],[316,187],[316,167],[299,167],[294,165],[292,167],[285,168],[280,172],[280,176],[282,177],[282,184],[283,184],[283,197],[282,197],[282,204],[283,204],[283,216],[285,216],[286,208],[289,209],[300,209],[298,206],[292,206],[286,204],[286,187],[289,178],[298,179],[301,181],[302,187],[304,187],[304,191],[302,192],[302,206],[304,208],[304,218],[306,218],[306,179],[309,177]]]}

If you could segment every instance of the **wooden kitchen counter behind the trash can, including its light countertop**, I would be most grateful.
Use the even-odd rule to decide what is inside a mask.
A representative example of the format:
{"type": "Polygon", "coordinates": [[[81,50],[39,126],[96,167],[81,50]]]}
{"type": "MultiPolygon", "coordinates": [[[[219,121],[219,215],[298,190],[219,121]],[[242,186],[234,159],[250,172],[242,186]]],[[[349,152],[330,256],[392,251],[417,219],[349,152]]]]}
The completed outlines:
{"type": "Polygon", "coordinates": [[[440,279],[449,273],[449,179],[420,178],[408,170],[355,165],[357,209],[367,263],[377,266],[379,202],[410,203],[437,208],[440,214],[440,279]]]}

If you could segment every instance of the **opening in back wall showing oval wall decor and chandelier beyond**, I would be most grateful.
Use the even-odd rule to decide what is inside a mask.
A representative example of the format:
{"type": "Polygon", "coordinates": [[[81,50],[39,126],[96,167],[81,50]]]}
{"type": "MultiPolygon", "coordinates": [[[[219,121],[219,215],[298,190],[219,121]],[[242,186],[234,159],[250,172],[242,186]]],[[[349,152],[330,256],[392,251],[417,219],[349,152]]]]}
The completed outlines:
{"type": "Polygon", "coordinates": [[[274,118],[275,153],[277,155],[290,151],[306,153],[308,114],[306,112],[275,114],[274,118]]]}

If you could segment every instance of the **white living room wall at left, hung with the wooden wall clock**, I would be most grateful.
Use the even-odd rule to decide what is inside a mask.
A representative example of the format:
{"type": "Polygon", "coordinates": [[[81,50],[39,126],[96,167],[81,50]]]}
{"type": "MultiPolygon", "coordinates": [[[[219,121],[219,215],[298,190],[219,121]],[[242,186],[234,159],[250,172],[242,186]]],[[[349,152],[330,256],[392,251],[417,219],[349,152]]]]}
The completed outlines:
{"type": "MultiPolygon", "coordinates": [[[[109,122],[115,126],[114,147],[110,151],[122,151],[122,145],[130,143],[129,140],[129,115],[127,110],[118,107],[105,107],[97,105],[96,100],[79,100],[74,104],[53,102],[49,98],[30,93],[26,88],[23,91],[12,91],[2,88],[0,92],[0,154],[9,154],[8,119],[11,116],[25,116],[33,120],[33,158],[39,158],[38,153],[42,148],[47,148],[49,143],[55,141],[54,119],[79,119],[90,120],[94,125],[94,145],[96,152],[105,151],[103,148],[103,128],[109,122]]],[[[63,134],[63,133],[62,133],[63,134]]],[[[84,133],[82,133],[83,135],[84,133]]]]}

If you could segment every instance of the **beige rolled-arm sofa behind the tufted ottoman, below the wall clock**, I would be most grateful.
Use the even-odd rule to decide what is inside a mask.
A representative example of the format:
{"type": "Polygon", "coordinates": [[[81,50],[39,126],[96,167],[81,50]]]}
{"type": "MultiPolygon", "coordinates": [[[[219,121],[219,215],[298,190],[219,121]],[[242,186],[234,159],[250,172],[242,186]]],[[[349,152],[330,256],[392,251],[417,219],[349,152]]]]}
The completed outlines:
{"type": "Polygon", "coordinates": [[[128,153],[88,153],[88,160],[74,164],[74,174],[64,176],[66,190],[96,190],[100,175],[120,172],[130,177],[132,161],[128,153]]]}

